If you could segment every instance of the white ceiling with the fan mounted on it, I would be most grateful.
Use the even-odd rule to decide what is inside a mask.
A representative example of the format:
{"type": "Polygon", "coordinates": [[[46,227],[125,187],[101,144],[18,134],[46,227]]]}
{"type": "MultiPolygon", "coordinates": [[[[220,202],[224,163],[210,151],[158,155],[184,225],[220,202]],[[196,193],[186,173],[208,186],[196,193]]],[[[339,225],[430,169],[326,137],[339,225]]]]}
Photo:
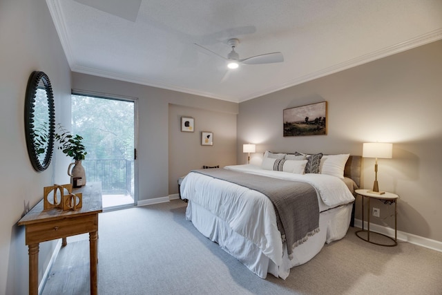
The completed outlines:
{"type": "Polygon", "coordinates": [[[442,39],[442,0],[46,0],[71,70],[243,102],[442,39]],[[278,64],[240,58],[280,51],[278,64]]]}

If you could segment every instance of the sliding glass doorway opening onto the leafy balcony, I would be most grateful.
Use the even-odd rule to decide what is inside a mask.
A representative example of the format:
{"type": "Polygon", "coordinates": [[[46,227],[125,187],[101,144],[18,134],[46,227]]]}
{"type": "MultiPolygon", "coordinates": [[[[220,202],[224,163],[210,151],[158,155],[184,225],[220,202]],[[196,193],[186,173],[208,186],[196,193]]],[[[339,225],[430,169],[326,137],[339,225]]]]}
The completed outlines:
{"type": "Polygon", "coordinates": [[[101,182],[103,210],[137,204],[137,100],[73,93],[72,133],[86,146],[87,182],[101,182]]]}

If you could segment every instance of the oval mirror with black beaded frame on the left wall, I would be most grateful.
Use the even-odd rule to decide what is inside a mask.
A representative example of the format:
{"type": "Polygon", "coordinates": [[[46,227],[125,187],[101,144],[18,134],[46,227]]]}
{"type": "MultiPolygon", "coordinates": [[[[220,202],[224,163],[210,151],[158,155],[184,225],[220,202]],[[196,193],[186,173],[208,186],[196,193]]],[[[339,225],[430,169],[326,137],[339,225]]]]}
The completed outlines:
{"type": "Polygon", "coordinates": [[[46,170],[52,158],[55,107],[49,77],[40,71],[32,72],[26,88],[25,134],[32,166],[46,170]]]}

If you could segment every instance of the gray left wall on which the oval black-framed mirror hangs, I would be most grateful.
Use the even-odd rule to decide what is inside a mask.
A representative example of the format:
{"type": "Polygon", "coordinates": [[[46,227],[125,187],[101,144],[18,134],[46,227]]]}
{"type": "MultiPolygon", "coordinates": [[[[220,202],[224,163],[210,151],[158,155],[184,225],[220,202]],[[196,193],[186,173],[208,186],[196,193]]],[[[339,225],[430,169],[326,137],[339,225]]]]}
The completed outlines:
{"type": "MultiPolygon", "coordinates": [[[[28,293],[28,247],[17,221],[43,197],[43,188],[69,182],[70,162],[56,153],[49,168],[32,169],[24,133],[26,84],[33,70],[50,78],[57,122],[70,124],[70,69],[44,0],[0,1],[0,294],[28,293]]],[[[43,275],[56,242],[40,244],[43,275]]]]}

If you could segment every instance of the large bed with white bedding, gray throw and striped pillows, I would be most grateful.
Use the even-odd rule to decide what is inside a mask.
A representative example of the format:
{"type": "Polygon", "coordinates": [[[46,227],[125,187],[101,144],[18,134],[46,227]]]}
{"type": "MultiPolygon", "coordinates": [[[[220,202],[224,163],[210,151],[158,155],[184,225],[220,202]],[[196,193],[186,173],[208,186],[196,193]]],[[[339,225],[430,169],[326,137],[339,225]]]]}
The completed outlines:
{"type": "Polygon", "coordinates": [[[360,173],[361,156],[266,151],[259,166],[191,171],[182,181],[180,193],[189,201],[186,219],[201,234],[260,278],[269,273],[285,279],[291,267],[307,263],[325,243],[345,236],[360,173]],[[299,189],[290,188],[294,185],[299,189]],[[269,197],[275,193],[267,191],[269,187],[291,189],[294,196],[277,207],[275,197],[269,197]],[[301,193],[295,196],[297,191],[305,197],[301,193]],[[308,208],[291,211],[286,204],[292,199],[298,200],[295,207],[306,204],[308,208]],[[284,211],[296,217],[287,218],[284,211]],[[296,225],[294,229],[292,225],[296,225]]]}

